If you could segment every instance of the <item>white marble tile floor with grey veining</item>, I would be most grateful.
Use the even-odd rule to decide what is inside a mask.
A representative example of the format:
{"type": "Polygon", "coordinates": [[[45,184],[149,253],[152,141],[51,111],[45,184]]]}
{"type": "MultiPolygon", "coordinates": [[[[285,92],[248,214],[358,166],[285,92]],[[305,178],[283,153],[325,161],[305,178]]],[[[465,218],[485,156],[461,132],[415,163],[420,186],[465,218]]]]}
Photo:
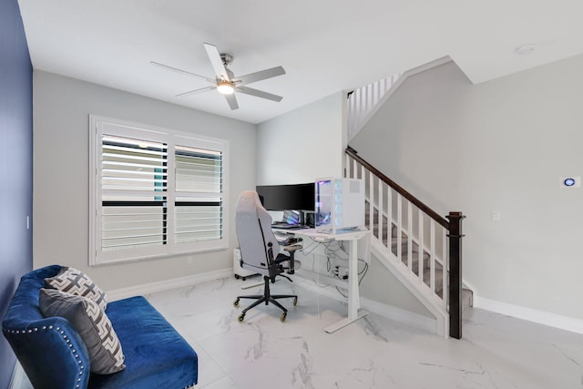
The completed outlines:
{"type": "MultiPolygon", "coordinates": [[[[468,309],[464,338],[444,339],[370,313],[336,333],[343,302],[281,280],[272,293],[295,292],[298,305],[280,322],[280,310],[261,305],[237,317],[238,294],[259,283],[225,278],[148,294],[148,301],[199,354],[205,389],[302,388],[583,388],[583,335],[468,309]]],[[[26,380],[25,380],[26,381],[26,380]]],[[[22,384],[21,389],[30,387],[22,384]]]]}

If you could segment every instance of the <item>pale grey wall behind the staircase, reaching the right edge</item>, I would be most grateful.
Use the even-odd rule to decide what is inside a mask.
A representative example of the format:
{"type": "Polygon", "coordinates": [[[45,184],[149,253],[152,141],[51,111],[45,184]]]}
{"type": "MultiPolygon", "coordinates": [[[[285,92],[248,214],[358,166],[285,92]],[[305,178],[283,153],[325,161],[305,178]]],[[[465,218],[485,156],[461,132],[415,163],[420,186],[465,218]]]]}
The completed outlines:
{"type": "Polygon", "coordinates": [[[558,186],[583,176],[582,68],[576,56],[472,85],[445,64],[406,80],[350,142],[439,213],[465,213],[479,297],[583,319],[583,189],[558,186]]]}

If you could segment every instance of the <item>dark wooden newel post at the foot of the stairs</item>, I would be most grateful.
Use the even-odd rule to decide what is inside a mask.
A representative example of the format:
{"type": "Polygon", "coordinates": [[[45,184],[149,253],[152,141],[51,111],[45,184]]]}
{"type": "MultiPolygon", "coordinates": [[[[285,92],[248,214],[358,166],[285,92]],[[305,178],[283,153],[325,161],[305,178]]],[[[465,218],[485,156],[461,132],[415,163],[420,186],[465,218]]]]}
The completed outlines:
{"type": "Polygon", "coordinates": [[[462,212],[449,212],[449,336],[462,339],[462,212]]]}

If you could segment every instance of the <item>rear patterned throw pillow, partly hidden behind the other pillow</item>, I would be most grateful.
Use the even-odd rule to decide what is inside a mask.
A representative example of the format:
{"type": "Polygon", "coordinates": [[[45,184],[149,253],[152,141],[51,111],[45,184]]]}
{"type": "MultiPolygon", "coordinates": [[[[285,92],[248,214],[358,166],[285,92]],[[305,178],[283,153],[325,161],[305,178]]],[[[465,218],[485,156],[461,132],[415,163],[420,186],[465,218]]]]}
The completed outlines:
{"type": "Polygon", "coordinates": [[[87,274],[74,268],[64,266],[55,277],[45,279],[45,287],[87,297],[87,299],[97,302],[102,310],[107,307],[106,293],[99,289],[87,274]]]}

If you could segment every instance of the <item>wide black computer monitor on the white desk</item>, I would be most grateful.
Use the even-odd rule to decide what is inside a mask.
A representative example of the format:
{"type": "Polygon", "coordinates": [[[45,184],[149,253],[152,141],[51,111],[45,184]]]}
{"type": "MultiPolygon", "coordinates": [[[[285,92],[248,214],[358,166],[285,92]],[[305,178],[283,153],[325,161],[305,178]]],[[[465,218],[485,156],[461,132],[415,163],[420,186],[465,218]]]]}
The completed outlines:
{"type": "Polygon", "coordinates": [[[314,183],[293,185],[258,185],[266,210],[315,210],[314,183]]]}

